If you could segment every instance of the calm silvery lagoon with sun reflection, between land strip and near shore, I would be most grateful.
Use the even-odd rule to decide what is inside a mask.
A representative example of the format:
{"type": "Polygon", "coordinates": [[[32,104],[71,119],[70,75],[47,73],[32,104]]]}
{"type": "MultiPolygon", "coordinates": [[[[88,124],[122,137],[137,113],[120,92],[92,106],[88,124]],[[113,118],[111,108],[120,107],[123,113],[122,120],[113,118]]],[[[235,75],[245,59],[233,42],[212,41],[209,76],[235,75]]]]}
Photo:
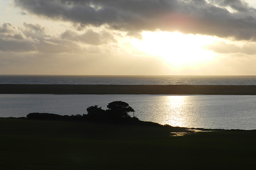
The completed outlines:
{"type": "Polygon", "coordinates": [[[0,94],[0,117],[28,113],[85,114],[98,105],[127,102],[143,121],[180,127],[256,129],[256,96],[0,94]]]}

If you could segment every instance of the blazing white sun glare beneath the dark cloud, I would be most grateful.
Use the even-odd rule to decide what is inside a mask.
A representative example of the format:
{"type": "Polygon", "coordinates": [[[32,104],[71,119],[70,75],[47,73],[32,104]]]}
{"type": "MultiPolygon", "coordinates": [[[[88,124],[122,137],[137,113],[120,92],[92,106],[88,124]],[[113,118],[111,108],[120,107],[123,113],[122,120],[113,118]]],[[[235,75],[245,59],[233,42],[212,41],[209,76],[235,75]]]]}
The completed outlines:
{"type": "Polygon", "coordinates": [[[154,55],[172,65],[197,65],[212,61],[213,52],[204,49],[214,37],[182,34],[179,32],[143,32],[143,40],[132,45],[148,55],[154,55]]]}

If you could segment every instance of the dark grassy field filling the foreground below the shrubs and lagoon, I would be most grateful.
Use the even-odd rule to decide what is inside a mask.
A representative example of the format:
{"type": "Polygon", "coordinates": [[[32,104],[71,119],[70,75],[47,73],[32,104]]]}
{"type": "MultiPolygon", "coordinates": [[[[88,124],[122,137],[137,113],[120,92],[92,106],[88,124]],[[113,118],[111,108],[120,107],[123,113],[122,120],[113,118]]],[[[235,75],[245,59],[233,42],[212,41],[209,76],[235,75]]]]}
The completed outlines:
{"type": "Polygon", "coordinates": [[[256,132],[0,119],[1,170],[254,170],[256,132]]]}

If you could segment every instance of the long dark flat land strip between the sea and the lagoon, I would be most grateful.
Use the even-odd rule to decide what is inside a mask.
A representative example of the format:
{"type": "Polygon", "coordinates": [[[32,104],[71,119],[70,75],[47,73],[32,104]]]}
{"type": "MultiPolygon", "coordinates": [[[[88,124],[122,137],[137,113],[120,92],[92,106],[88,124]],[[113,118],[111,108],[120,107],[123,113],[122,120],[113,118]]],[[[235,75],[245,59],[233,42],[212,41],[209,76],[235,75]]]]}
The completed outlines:
{"type": "Polygon", "coordinates": [[[26,84],[0,84],[0,94],[256,95],[256,85],[26,85],[26,84]]]}

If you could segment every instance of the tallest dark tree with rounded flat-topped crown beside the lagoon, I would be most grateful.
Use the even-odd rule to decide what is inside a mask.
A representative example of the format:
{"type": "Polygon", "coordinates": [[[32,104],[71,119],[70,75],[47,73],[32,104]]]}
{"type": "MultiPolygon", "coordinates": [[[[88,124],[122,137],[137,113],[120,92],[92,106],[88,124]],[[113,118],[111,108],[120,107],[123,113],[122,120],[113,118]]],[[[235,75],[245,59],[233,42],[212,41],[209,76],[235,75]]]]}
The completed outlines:
{"type": "Polygon", "coordinates": [[[111,118],[127,118],[130,117],[129,112],[134,112],[128,103],[122,101],[108,103],[107,108],[108,116],[111,118]]]}

